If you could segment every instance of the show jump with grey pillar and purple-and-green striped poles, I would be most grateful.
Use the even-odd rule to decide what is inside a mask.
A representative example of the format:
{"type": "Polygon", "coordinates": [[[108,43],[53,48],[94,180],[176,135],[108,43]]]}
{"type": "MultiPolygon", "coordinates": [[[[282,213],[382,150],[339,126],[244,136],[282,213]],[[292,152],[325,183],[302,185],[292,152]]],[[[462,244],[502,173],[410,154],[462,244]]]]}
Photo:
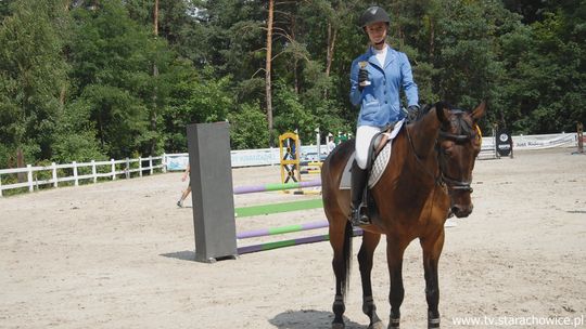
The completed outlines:
{"type": "MultiPolygon", "coordinates": [[[[194,123],[188,126],[188,149],[193,202],[193,228],[195,236],[195,261],[214,263],[221,259],[235,259],[239,254],[275,248],[324,241],[326,235],[316,235],[275,242],[237,247],[237,239],[252,236],[303,232],[324,227],[326,222],[272,227],[264,231],[244,232],[237,235],[235,219],[246,215],[270,214],[319,208],[320,199],[298,200],[276,205],[259,205],[234,209],[234,194],[285,190],[319,186],[320,181],[286,182],[256,186],[232,187],[230,163],[230,136],[227,122],[194,123]]],[[[298,160],[298,158],[297,158],[298,160]]],[[[361,232],[356,232],[356,235],[361,232]]]]}

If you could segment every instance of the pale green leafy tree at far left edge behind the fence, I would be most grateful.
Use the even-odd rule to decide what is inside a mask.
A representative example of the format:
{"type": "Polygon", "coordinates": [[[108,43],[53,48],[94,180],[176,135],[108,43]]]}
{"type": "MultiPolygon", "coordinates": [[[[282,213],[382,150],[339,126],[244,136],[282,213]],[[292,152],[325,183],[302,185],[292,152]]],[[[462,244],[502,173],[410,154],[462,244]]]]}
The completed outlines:
{"type": "Polygon", "coordinates": [[[67,65],[61,55],[63,1],[22,0],[0,27],[0,141],[25,145],[33,158],[51,156],[55,117],[62,109],[67,65]]]}

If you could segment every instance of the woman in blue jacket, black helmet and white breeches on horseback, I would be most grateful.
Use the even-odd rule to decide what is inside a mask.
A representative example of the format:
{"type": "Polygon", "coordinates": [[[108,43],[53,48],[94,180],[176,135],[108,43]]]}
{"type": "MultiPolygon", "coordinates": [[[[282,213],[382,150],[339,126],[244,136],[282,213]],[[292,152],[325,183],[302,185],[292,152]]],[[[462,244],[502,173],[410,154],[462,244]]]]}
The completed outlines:
{"type": "Polygon", "coordinates": [[[362,202],[367,180],[370,141],[391,122],[405,118],[400,111],[399,91],[407,96],[409,114],[417,116],[419,96],[407,55],[386,43],[388,14],[380,6],[367,9],[360,16],[360,27],[370,47],[351,67],[351,102],[360,105],[356,129],[356,162],[352,167],[352,223],[368,224],[362,202]]]}

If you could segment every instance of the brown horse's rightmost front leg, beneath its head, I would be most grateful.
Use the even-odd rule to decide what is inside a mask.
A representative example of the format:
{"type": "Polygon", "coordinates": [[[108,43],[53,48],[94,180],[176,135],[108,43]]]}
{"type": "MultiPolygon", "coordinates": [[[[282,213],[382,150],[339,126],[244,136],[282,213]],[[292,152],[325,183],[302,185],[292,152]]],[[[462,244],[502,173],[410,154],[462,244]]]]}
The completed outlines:
{"type": "Polygon", "coordinates": [[[444,231],[433,238],[421,239],[425,272],[425,299],[428,300],[428,328],[440,328],[440,280],[437,263],[444,247],[444,231]]]}

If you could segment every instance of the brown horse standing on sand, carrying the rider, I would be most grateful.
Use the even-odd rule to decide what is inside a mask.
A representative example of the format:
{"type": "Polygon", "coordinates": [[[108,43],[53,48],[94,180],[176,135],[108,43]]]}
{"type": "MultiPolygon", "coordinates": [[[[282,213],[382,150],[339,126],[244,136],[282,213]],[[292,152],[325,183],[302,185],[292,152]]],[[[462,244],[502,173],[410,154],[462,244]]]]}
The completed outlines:
{"type": "MultiPolygon", "coordinates": [[[[386,260],[391,277],[388,328],[399,327],[403,288],[403,254],[419,238],[423,249],[428,327],[440,327],[437,262],[444,246],[444,223],[450,213],[466,218],[472,212],[470,187],[474,161],[481,149],[476,122],[482,103],[473,111],[451,109],[444,103],[428,107],[419,120],[403,127],[393,142],[393,155],[381,179],[370,189],[377,211],[372,224],[362,226],[358,263],[362,281],[362,312],[369,328],[383,328],[372,300],[370,275],[374,249],[386,235],[386,260]]],[[[354,141],[336,147],[321,168],[323,209],[330,222],[335,274],[332,328],[344,328],[344,297],[349,281],[353,227],[348,221],[351,196],[340,189],[344,167],[354,141]]]]}

